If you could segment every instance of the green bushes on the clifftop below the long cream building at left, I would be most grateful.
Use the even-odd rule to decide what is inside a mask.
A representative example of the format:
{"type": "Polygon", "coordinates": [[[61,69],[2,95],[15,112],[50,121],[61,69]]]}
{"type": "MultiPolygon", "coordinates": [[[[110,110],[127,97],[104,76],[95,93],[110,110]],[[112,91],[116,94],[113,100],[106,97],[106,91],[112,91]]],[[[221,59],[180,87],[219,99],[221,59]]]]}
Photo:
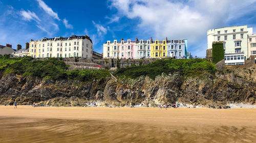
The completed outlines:
{"type": "Polygon", "coordinates": [[[76,79],[91,81],[106,76],[110,77],[108,70],[73,70],[67,71],[68,65],[55,58],[48,60],[32,60],[30,56],[25,58],[0,58],[0,75],[18,74],[49,79],[76,79]]]}

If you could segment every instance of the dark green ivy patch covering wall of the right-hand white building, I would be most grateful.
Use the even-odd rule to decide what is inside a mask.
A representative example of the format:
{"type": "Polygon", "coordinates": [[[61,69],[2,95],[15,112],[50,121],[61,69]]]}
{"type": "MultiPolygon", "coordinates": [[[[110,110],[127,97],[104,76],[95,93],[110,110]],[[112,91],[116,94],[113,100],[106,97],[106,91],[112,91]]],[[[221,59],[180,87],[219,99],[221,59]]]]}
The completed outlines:
{"type": "Polygon", "coordinates": [[[218,63],[224,59],[224,45],[222,42],[212,44],[212,62],[218,63]]]}

